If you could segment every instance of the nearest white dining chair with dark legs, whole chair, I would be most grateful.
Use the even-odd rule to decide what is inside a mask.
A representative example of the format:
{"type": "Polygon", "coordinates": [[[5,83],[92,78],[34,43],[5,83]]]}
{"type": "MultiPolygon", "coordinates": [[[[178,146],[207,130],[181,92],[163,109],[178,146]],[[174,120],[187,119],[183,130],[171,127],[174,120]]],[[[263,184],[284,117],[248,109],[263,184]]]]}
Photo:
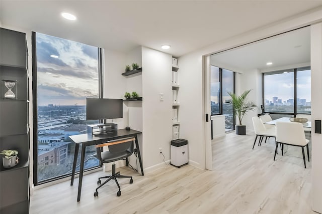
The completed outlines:
{"type": "Polygon", "coordinates": [[[282,146],[282,155],[283,155],[284,145],[299,146],[299,147],[302,147],[304,167],[306,168],[304,147],[306,146],[307,159],[308,161],[310,161],[309,153],[308,153],[309,140],[305,139],[304,128],[301,123],[276,122],[275,140],[276,140],[276,147],[275,147],[274,160],[277,154],[277,148],[279,143],[282,146]]]}

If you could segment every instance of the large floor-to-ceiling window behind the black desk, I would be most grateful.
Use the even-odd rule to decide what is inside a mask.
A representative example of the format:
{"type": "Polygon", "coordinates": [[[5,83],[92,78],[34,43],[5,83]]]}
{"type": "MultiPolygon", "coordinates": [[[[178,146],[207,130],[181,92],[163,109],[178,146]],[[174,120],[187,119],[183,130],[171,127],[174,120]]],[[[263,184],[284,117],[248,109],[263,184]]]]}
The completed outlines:
{"type": "MultiPolygon", "coordinates": [[[[86,98],[101,97],[101,50],[32,34],[34,94],[34,184],[71,173],[74,144],[68,136],[87,133],[86,98]]],[[[85,168],[99,166],[94,147],[85,168]]],[[[79,165],[77,163],[77,169],[79,165]]]]}

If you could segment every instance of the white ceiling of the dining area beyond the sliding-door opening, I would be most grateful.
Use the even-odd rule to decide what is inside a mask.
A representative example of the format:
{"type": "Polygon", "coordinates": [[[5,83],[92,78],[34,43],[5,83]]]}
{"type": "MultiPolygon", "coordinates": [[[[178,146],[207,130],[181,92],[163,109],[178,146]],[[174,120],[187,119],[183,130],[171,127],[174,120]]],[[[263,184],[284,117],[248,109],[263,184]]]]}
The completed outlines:
{"type": "Polygon", "coordinates": [[[211,55],[210,63],[241,73],[307,66],[310,63],[310,27],[211,55]],[[266,65],[268,62],[273,64],[266,65]]]}

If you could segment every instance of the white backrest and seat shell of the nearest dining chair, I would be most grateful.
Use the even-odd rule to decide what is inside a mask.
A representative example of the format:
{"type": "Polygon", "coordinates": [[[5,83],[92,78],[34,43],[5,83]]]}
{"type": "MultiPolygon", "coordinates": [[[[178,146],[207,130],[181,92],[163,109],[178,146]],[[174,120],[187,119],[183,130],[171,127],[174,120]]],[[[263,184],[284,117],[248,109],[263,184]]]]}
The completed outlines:
{"type": "Polygon", "coordinates": [[[292,145],[306,145],[303,125],[295,122],[276,122],[276,141],[292,145]]]}

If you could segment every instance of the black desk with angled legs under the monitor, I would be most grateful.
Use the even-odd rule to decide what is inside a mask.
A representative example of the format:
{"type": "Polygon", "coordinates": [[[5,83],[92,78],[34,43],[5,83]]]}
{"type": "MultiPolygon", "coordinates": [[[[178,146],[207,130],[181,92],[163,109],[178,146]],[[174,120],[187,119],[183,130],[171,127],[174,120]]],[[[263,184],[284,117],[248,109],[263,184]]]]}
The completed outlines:
{"type": "Polygon", "coordinates": [[[78,181],[78,193],[77,193],[77,201],[81,200],[81,191],[82,191],[82,181],[83,181],[83,171],[84,171],[84,160],[85,160],[85,149],[87,146],[97,145],[106,143],[110,140],[116,140],[124,137],[135,137],[135,147],[137,150],[141,172],[143,173],[143,167],[142,167],[142,160],[141,160],[141,153],[139,149],[139,143],[137,140],[137,134],[140,134],[142,132],[136,131],[136,130],[125,130],[125,129],[119,129],[115,133],[109,133],[109,134],[102,134],[102,135],[96,135],[93,136],[91,134],[79,134],[79,135],[72,135],[69,136],[69,138],[75,143],[75,153],[74,153],[74,161],[72,165],[72,173],[71,173],[71,181],[70,185],[73,185],[74,177],[75,177],[75,169],[76,169],[76,162],[77,162],[77,155],[78,155],[78,149],[79,144],[82,143],[82,155],[81,155],[81,168],[79,168],[79,181],[78,181]]]}

